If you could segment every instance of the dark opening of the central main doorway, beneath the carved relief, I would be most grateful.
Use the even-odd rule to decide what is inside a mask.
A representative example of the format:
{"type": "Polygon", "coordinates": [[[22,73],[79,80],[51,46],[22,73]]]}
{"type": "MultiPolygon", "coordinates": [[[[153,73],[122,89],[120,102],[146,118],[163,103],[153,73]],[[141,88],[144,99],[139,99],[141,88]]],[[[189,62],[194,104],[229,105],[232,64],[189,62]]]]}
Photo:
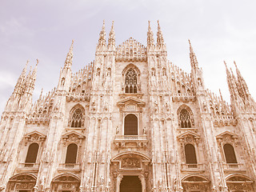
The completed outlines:
{"type": "Polygon", "coordinates": [[[138,176],[123,176],[120,192],[142,192],[142,182],[138,176]]]}

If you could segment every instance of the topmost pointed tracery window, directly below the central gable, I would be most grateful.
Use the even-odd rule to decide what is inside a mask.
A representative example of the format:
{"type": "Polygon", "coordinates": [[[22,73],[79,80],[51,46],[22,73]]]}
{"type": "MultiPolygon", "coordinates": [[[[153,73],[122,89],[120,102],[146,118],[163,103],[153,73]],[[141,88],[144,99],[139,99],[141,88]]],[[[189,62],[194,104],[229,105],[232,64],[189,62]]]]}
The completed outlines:
{"type": "Polygon", "coordinates": [[[136,94],[138,92],[137,74],[130,69],[126,73],[126,94],[136,94]]]}

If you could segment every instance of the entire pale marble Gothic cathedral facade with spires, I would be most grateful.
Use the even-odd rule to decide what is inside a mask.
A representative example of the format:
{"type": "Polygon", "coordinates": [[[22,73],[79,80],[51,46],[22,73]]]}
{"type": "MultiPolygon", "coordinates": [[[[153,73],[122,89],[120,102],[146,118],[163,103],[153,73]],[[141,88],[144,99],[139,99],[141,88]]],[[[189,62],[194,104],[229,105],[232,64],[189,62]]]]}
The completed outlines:
{"type": "MultiPolygon", "coordinates": [[[[158,23],[147,45],[116,46],[112,24],[95,60],[73,73],[73,42],[58,85],[32,102],[37,65],[18,78],[0,124],[3,192],[256,191],[256,105],[226,66],[231,104],[167,60],[158,23]]],[[[226,64],[226,63],[225,63],[226,64]]]]}

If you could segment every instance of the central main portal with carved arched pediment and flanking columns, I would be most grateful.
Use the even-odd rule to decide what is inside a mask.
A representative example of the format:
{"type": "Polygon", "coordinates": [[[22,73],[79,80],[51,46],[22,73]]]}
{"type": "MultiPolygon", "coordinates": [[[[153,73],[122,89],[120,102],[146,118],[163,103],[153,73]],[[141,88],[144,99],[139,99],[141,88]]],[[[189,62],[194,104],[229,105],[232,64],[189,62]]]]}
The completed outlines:
{"type": "Polygon", "coordinates": [[[139,152],[124,152],[111,159],[110,174],[113,191],[150,191],[150,158],[139,152]]]}

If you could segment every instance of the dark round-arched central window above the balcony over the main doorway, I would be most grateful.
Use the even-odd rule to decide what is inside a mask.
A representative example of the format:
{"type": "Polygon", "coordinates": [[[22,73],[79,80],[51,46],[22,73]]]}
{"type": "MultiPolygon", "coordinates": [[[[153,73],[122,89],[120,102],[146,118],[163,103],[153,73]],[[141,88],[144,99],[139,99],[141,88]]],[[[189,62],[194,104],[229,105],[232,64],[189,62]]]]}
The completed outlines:
{"type": "Polygon", "coordinates": [[[134,114],[126,115],[124,134],[138,135],[138,118],[134,114]]]}

